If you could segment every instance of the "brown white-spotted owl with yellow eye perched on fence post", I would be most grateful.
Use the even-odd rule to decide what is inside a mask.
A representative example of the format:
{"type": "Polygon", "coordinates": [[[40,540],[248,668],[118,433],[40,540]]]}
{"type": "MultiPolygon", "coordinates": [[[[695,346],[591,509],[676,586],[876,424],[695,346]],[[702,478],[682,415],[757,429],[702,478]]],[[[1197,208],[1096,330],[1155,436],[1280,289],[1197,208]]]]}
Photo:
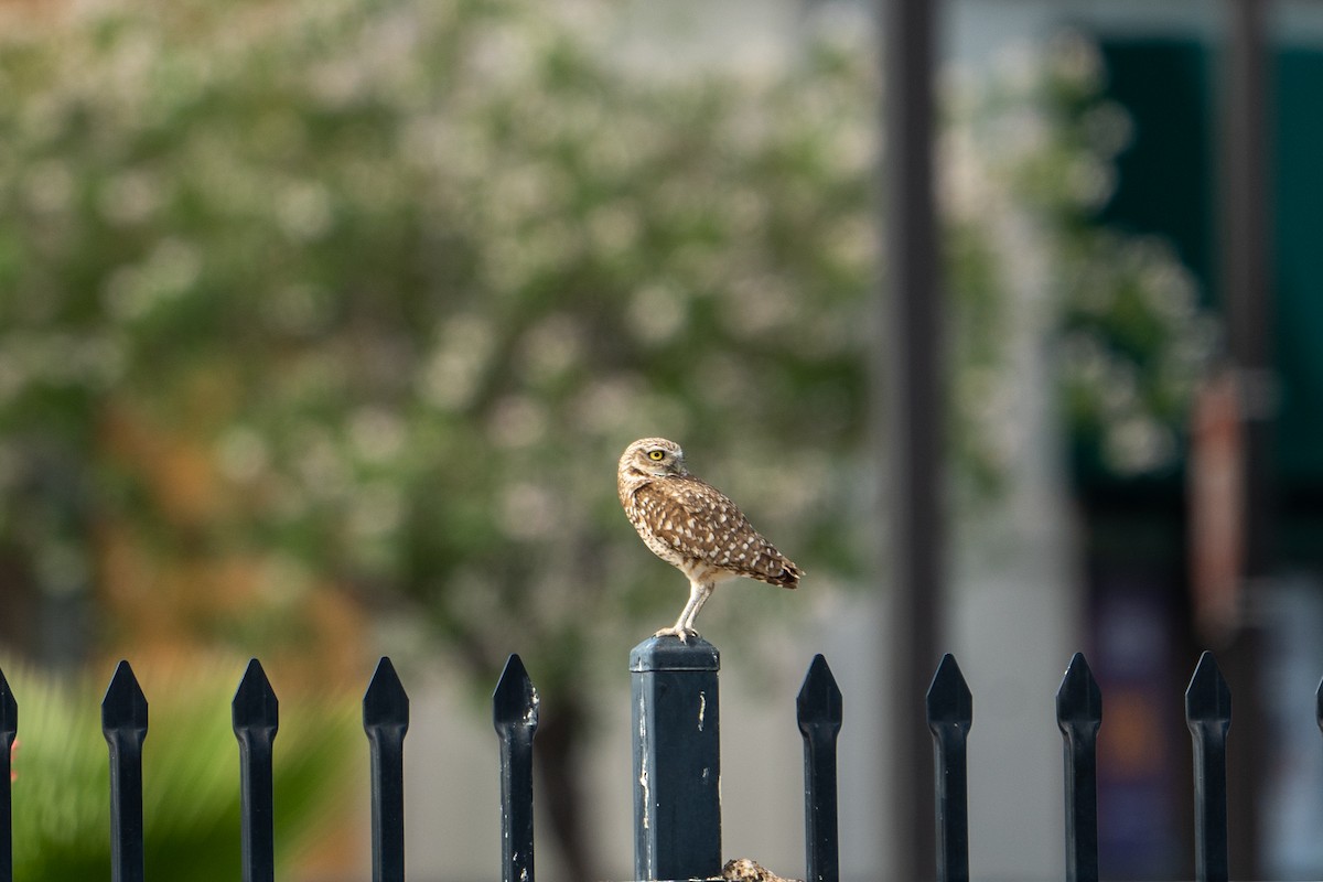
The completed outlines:
{"type": "Polygon", "coordinates": [[[620,505],[652,553],[689,578],[689,602],[656,636],[697,636],[693,620],[718,582],[746,575],[799,587],[799,567],[749,524],[734,502],[684,467],[684,451],[664,438],[624,448],[617,472],[620,505]]]}

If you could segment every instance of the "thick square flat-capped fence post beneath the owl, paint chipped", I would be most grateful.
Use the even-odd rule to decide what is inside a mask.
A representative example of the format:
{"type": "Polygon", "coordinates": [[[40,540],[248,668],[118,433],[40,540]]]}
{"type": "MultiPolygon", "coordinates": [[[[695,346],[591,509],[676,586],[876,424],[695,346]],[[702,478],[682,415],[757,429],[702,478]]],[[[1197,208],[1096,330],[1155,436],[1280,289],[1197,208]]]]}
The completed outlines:
{"type": "Polygon", "coordinates": [[[720,666],[701,637],[651,637],[630,653],[635,879],[721,874],[720,666]]]}

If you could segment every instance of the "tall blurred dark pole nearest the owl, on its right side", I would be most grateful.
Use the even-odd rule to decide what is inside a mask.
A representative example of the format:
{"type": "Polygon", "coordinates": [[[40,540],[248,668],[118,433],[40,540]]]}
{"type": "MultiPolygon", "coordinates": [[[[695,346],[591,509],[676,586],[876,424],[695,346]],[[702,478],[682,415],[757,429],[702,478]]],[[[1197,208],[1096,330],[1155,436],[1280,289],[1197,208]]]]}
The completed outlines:
{"type": "Polygon", "coordinates": [[[941,292],[933,175],[933,69],[939,0],[882,0],[884,57],[884,327],[878,335],[878,387],[888,393],[885,443],[889,562],[893,603],[882,623],[890,652],[885,676],[894,688],[890,747],[890,837],[897,879],[931,875],[935,850],[933,789],[916,758],[926,752],[919,722],[925,686],[937,659],[942,615],[941,292]]]}

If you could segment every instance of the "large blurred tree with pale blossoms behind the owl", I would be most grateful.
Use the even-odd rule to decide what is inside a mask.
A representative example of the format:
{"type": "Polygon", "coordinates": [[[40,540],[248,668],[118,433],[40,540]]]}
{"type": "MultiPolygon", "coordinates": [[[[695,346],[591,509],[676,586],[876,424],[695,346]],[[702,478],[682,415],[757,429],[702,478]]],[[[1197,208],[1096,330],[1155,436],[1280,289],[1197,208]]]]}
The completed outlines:
{"type": "MultiPolygon", "coordinates": [[[[483,685],[517,649],[568,874],[593,878],[582,680],[683,599],[618,510],[624,444],[681,439],[815,590],[867,557],[875,65],[640,73],[548,5],[79,4],[4,29],[0,557],[91,596],[108,644],[324,645],[366,604],[483,685]]],[[[1013,443],[1015,255],[990,227],[1016,175],[1057,193],[1093,149],[949,160],[963,487],[1013,443]]]]}

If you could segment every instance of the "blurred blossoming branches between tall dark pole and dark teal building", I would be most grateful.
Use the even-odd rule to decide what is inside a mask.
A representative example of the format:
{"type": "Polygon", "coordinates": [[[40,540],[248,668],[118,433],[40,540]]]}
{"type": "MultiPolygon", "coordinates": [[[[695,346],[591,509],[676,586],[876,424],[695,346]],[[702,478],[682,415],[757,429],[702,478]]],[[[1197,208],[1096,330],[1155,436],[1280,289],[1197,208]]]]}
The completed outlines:
{"type": "Polygon", "coordinates": [[[1113,193],[1114,160],[1131,139],[1125,108],[1105,99],[1097,49],[1062,33],[1032,71],[984,93],[975,128],[1005,135],[1011,123],[1019,138],[1028,132],[1036,141],[991,164],[1023,194],[1052,255],[1046,272],[1069,442],[1077,464],[1094,476],[1170,473],[1218,325],[1168,242],[1095,223],[1113,193]]]}

